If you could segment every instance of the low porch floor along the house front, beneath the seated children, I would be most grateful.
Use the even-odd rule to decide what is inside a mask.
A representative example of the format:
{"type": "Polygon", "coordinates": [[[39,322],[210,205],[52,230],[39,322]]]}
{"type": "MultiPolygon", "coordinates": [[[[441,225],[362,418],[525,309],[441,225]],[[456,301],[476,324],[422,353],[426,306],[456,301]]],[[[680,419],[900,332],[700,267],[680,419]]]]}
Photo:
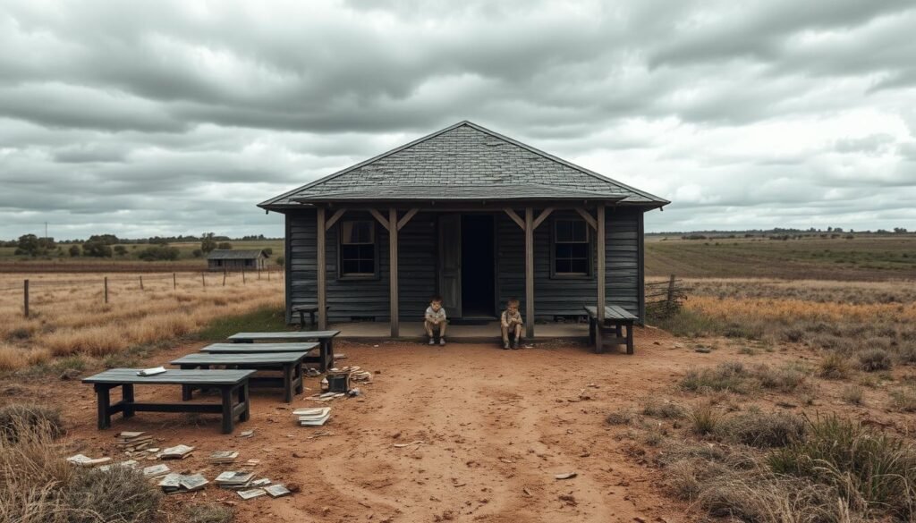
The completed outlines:
{"type": "MultiPolygon", "coordinates": [[[[340,331],[338,340],[372,341],[390,340],[391,328],[387,321],[364,321],[333,323],[329,329],[340,331]]],[[[588,342],[588,323],[544,323],[534,327],[535,341],[568,340],[588,342]]],[[[445,339],[455,343],[486,343],[499,341],[499,322],[490,321],[484,325],[449,325],[445,339]]],[[[403,341],[426,341],[423,323],[420,321],[401,321],[400,337],[403,341]]],[[[522,338],[522,342],[525,339],[522,338]]]]}

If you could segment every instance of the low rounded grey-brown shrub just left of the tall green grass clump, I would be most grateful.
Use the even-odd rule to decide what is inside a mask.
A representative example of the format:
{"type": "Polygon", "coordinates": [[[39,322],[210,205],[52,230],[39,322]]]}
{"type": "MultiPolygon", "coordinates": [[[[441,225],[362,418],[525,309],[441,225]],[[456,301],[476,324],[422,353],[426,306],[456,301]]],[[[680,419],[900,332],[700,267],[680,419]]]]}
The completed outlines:
{"type": "Polygon", "coordinates": [[[726,440],[759,448],[785,446],[802,439],[804,430],[804,420],[798,416],[758,410],[724,419],[715,428],[716,434],[726,440]]]}

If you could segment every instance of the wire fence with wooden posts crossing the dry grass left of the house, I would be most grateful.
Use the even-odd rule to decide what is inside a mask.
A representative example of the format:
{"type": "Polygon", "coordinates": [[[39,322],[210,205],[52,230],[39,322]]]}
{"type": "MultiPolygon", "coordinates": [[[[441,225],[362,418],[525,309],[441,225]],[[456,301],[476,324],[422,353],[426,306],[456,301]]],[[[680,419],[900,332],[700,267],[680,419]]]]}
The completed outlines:
{"type": "Polygon", "coordinates": [[[22,295],[23,315],[28,318],[30,314],[30,299],[32,292],[41,289],[100,289],[101,300],[108,303],[114,286],[118,293],[124,291],[145,291],[147,289],[170,289],[173,291],[184,289],[206,289],[207,287],[227,287],[247,285],[249,281],[266,280],[282,281],[283,271],[277,269],[241,270],[222,272],[171,272],[165,274],[146,273],[139,275],[104,276],[101,278],[70,278],[70,279],[33,279],[25,278],[16,285],[4,285],[0,292],[16,293],[22,295]],[[127,284],[127,285],[125,285],[127,284]],[[131,285],[136,284],[136,285],[131,285]]]}

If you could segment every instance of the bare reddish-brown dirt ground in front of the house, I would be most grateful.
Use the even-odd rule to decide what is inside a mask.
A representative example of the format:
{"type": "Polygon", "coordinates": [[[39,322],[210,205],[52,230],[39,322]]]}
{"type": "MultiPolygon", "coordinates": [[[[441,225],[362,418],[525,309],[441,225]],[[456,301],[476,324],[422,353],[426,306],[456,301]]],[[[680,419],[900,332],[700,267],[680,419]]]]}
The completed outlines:
{"type": "MultiPolygon", "coordinates": [[[[698,354],[664,332],[638,330],[635,355],[592,354],[585,346],[546,345],[518,351],[495,345],[338,343],[338,365],[373,371],[360,398],[328,405],[320,428],[299,428],[278,391],[252,393],[251,419],[222,435],[213,417],[139,413],[95,429],[93,390],[78,381],[54,382],[56,392],[27,383],[5,384],[10,397],[32,397],[65,409],[68,452],[119,459],[113,436],[147,430],[159,446],[193,445],[198,452],[170,462],[179,472],[213,480],[231,466],[206,456],[238,450],[261,460],[260,475],[298,486],[293,496],[242,501],[213,485],[169,496],[162,519],[180,521],[180,505],[219,500],[237,508],[237,521],[689,521],[699,519],[664,495],[660,471],[614,438],[608,412],[646,398],[671,398],[688,369],[736,358],[735,349],[698,354]],[[256,430],[240,439],[241,430],[256,430]],[[318,433],[330,435],[312,438],[318,433]],[[421,442],[416,442],[421,441],[421,442]],[[396,443],[413,443],[398,448],[396,443]],[[573,479],[554,474],[575,472],[573,479]]],[[[156,354],[160,365],[196,351],[189,344],[156,354]]],[[[622,349],[622,348],[621,348],[622,349]]],[[[785,359],[787,354],[766,356],[785,359]]],[[[798,357],[798,356],[791,356],[798,357]]],[[[758,360],[760,361],[760,360],[758,360]]],[[[320,378],[308,378],[315,392],[320,378]]],[[[137,387],[137,398],[175,400],[177,387],[137,387]]],[[[215,400],[215,398],[209,398],[215,400]]]]}

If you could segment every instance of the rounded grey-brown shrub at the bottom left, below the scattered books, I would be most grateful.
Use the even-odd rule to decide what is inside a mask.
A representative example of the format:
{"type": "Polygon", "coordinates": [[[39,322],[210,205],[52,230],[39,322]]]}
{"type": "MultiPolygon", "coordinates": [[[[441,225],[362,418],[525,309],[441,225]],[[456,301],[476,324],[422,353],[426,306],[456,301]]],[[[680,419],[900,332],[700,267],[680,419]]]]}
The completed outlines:
{"type": "Polygon", "coordinates": [[[162,494],[143,472],[126,467],[79,471],[67,489],[69,523],[153,521],[162,494]]]}

